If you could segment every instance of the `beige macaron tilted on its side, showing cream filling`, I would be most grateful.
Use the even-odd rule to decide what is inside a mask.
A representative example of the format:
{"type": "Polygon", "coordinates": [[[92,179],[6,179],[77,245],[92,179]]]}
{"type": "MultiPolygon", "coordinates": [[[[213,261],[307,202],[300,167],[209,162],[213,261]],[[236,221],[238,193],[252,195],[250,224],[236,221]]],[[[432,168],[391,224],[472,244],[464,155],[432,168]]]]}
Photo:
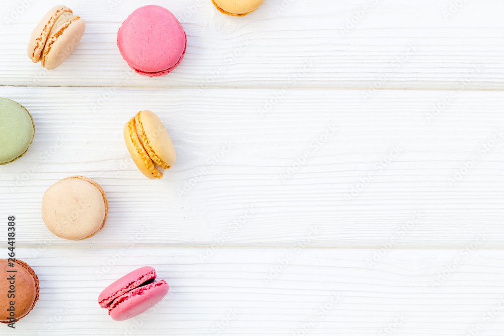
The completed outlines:
{"type": "Polygon", "coordinates": [[[86,22],[68,7],[57,5],[47,12],[32,32],[28,57],[44,68],[56,69],[74,51],[84,35],[86,22]]]}

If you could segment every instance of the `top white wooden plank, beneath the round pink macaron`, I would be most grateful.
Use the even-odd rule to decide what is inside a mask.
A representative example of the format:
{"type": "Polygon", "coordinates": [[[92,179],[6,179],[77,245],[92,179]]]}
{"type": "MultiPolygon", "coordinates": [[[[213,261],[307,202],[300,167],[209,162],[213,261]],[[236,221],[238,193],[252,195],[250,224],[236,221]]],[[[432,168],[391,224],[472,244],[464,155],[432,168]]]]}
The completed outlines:
{"type": "Polygon", "coordinates": [[[181,21],[188,45],[180,66],[154,79],[130,70],[116,46],[122,21],[144,4],[68,0],[86,33],[48,72],[26,56],[48,5],[2,2],[0,84],[277,88],[300,74],[300,88],[504,89],[499,0],[269,0],[242,18],[222,15],[210,0],[160,0],[181,21]]]}

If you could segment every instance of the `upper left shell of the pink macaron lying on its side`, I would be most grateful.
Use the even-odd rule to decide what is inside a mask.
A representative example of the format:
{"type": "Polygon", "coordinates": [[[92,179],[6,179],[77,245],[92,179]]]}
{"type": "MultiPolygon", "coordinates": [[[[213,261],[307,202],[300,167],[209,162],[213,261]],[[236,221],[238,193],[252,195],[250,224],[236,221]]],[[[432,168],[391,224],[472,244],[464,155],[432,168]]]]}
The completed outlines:
{"type": "Polygon", "coordinates": [[[108,308],[117,297],[152,279],[156,279],[156,270],[151,266],[140,267],[107,286],[98,296],[98,304],[108,308]]]}

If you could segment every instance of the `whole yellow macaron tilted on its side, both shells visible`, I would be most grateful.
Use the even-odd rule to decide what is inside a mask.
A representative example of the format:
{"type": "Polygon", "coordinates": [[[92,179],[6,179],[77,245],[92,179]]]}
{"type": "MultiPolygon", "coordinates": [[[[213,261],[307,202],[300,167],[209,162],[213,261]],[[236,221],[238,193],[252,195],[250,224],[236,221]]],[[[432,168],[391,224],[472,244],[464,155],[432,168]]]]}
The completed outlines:
{"type": "Polygon", "coordinates": [[[123,129],[133,162],[150,179],[163,177],[176,161],[175,147],[161,119],[152,111],[140,111],[123,129]]]}

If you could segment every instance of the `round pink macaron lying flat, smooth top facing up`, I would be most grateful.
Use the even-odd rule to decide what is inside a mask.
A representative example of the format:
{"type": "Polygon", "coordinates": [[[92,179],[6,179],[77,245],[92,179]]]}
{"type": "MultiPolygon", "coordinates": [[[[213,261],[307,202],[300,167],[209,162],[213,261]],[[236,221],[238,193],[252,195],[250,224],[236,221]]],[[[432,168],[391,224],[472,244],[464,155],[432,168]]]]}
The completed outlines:
{"type": "Polygon", "coordinates": [[[187,37],[167,9],[148,5],[135,10],[117,33],[122,58],[140,75],[164,76],[184,57],[187,37]]]}

